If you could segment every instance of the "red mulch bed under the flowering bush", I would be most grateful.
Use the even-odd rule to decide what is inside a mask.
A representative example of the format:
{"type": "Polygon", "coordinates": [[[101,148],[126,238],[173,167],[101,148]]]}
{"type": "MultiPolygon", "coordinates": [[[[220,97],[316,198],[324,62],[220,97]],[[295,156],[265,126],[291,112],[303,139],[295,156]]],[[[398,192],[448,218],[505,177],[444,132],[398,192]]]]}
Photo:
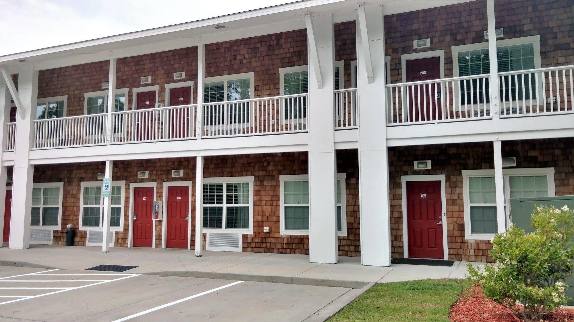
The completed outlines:
{"type": "MultiPolygon", "coordinates": [[[[520,322],[509,309],[484,299],[482,290],[472,286],[466,290],[451,309],[452,322],[520,322]]],[[[574,310],[559,309],[544,321],[574,321],[574,310]]]]}

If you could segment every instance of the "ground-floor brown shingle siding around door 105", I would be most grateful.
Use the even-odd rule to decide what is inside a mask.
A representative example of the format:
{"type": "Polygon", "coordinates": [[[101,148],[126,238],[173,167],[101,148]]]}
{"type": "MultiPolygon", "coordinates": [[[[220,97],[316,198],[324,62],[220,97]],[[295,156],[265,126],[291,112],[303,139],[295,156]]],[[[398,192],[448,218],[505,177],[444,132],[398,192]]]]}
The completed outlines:
{"type": "MultiPolygon", "coordinates": [[[[389,188],[391,252],[403,257],[401,175],[446,175],[448,257],[492,261],[490,241],[464,238],[462,170],[494,169],[492,143],[390,147],[389,188]],[[414,170],[414,160],[431,160],[431,170],[414,170]]],[[[516,168],[554,168],[556,195],[574,194],[574,140],[544,139],[502,142],[502,157],[516,157],[516,168]]]]}

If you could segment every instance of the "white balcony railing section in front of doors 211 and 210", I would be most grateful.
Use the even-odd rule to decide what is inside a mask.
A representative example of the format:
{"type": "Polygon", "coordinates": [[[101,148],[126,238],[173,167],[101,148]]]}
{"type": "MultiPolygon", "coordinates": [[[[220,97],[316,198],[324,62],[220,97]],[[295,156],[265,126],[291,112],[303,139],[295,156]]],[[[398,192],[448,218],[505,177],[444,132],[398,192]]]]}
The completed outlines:
{"type": "Polygon", "coordinates": [[[112,144],[195,138],[197,105],[112,113],[112,144]]]}

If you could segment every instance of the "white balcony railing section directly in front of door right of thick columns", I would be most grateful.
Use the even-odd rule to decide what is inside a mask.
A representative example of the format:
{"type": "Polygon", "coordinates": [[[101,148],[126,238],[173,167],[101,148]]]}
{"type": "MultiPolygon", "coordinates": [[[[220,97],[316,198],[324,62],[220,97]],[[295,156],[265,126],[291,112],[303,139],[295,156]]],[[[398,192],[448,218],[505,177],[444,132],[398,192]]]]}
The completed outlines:
{"type": "Polygon", "coordinates": [[[386,85],[387,125],[490,119],[489,74],[386,85]]]}

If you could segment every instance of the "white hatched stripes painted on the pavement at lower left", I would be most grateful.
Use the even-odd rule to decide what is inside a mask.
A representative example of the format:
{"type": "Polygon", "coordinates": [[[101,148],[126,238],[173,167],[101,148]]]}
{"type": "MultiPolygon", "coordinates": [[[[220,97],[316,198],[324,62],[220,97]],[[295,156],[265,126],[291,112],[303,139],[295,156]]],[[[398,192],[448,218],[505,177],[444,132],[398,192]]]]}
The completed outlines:
{"type": "MultiPolygon", "coordinates": [[[[46,296],[46,295],[56,294],[56,293],[61,293],[61,292],[67,292],[68,290],[86,288],[88,286],[94,286],[94,285],[98,285],[98,284],[104,284],[107,282],[119,281],[119,280],[123,280],[125,278],[134,277],[134,276],[139,276],[139,274],[108,274],[108,275],[121,275],[122,276],[119,278],[115,278],[113,280],[7,280],[7,278],[14,278],[14,277],[21,277],[21,276],[43,276],[43,274],[41,274],[41,273],[53,272],[54,270],[57,270],[57,269],[44,270],[42,272],[36,272],[36,273],[28,273],[28,274],[2,277],[2,278],[0,278],[0,282],[95,282],[95,283],[77,286],[77,287],[73,287],[73,288],[33,288],[33,287],[32,288],[0,288],[0,289],[58,289],[55,292],[49,292],[49,293],[44,293],[44,294],[32,295],[32,296],[0,296],[0,298],[8,298],[8,297],[16,298],[15,300],[0,302],[0,305],[8,304],[8,303],[14,303],[17,301],[22,301],[22,300],[35,299],[36,297],[41,297],[41,296],[46,296]]],[[[46,274],[46,275],[48,275],[48,274],[46,274]]],[[[49,274],[49,276],[53,276],[53,275],[54,274],[49,274]]],[[[63,275],[63,276],[80,276],[80,275],[90,276],[90,275],[98,275],[98,274],[61,274],[61,275],[63,275]]]]}

